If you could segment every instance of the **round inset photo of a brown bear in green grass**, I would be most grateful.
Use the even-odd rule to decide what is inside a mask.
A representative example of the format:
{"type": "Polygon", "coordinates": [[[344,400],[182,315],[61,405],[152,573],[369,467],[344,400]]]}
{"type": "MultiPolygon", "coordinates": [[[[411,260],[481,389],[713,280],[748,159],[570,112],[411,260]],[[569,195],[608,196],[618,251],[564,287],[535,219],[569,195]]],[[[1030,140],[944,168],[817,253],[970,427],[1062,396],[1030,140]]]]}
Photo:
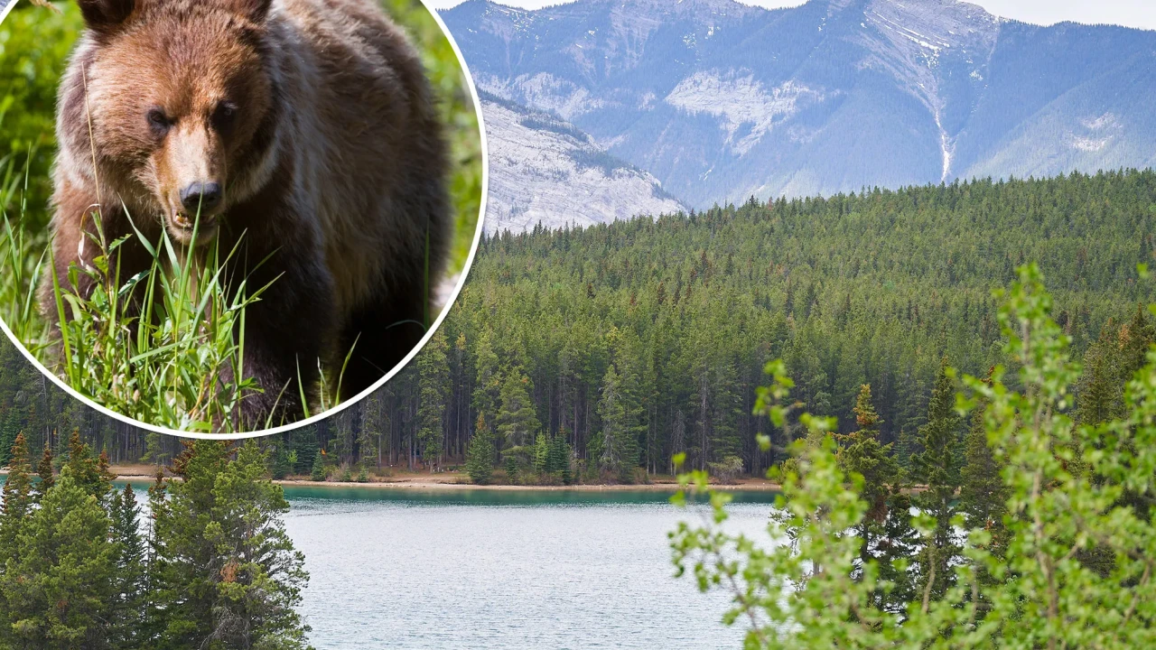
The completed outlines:
{"type": "Polygon", "coordinates": [[[273,433],[440,324],[486,143],[418,0],[0,7],[0,319],[61,386],[156,431],[273,433]]]}

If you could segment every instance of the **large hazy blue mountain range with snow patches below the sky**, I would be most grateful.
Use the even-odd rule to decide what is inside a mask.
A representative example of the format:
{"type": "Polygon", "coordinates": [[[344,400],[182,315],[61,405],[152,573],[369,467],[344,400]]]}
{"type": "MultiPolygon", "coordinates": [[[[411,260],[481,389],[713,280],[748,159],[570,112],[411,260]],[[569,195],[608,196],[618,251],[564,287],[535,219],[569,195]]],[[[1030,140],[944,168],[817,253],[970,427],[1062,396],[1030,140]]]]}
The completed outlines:
{"type": "Polygon", "coordinates": [[[1156,31],[953,0],[468,0],[443,17],[480,88],[698,208],[1156,160],[1156,31]]]}

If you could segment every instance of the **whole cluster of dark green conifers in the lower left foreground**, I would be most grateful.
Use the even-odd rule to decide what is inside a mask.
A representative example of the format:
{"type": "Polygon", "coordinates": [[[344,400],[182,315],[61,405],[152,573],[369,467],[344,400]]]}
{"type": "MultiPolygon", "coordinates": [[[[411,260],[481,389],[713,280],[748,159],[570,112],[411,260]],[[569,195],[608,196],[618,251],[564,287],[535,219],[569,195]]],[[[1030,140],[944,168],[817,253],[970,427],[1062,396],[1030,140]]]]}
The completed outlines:
{"type": "Polygon", "coordinates": [[[142,516],[73,436],[34,482],[23,436],[0,510],[0,648],[304,649],[309,576],[255,443],[188,443],[142,516]]]}

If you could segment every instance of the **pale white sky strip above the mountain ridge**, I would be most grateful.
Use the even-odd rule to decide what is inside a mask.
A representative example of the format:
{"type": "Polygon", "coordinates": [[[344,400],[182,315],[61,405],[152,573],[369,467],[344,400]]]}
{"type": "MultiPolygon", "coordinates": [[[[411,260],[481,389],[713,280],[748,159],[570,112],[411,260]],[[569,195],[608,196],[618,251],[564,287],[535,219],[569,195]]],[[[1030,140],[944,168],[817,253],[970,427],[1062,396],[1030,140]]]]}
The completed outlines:
{"type": "MultiPolygon", "coordinates": [[[[425,0],[431,7],[445,9],[461,0],[425,0]]],[[[558,5],[558,0],[497,0],[503,5],[536,9],[558,5]]],[[[672,0],[673,1],[673,0],[672,0]]],[[[759,7],[796,7],[801,0],[740,0],[759,7]]],[[[1156,29],[1154,0],[970,0],[996,16],[1035,24],[1054,24],[1064,21],[1080,23],[1122,24],[1140,29],[1156,29]]]]}

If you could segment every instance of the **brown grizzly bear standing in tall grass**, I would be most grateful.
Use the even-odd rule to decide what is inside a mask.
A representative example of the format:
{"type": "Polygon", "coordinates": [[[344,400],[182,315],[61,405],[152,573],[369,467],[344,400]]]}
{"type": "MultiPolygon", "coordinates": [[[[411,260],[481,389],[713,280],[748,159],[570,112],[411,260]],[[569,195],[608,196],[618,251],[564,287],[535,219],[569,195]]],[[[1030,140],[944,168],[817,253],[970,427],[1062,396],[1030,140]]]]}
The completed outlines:
{"type": "MultiPolygon", "coordinates": [[[[76,1],[53,177],[61,281],[102,254],[94,219],[105,241],[129,236],[121,279],[151,264],[138,230],[163,228],[184,254],[237,248],[225,276],[268,285],[244,320],[244,377],[262,389],[244,428],[301,418],[318,362],[350,349],[342,397],[380,379],[424,335],[450,237],[442,126],[406,35],[376,0],[76,1]]],[[[79,278],[66,288],[89,295],[79,278]]]]}

